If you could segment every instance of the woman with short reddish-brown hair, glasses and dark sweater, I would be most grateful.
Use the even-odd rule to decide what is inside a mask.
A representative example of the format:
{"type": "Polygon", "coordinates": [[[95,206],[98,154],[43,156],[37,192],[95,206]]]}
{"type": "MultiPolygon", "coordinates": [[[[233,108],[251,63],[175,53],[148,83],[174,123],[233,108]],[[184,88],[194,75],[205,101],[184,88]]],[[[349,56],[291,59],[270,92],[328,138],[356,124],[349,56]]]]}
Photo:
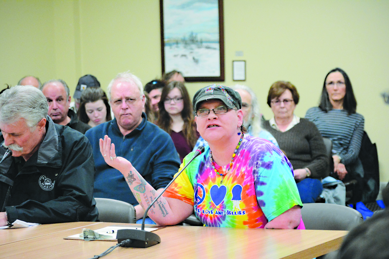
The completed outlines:
{"type": "Polygon", "coordinates": [[[303,203],[314,203],[321,195],[321,179],[329,175],[323,138],[314,123],[294,114],[299,101],[296,87],[277,81],[270,87],[267,104],[274,117],[264,122],[293,165],[294,179],[303,203]]]}

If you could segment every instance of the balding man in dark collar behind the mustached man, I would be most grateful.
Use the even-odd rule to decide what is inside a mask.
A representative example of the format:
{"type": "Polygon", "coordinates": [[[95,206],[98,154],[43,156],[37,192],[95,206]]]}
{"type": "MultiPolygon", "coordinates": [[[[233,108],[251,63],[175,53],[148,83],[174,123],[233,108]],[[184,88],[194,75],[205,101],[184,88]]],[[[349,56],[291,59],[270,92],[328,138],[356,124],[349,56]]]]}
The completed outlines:
{"type": "Polygon", "coordinates": [[[91,128],[88,124],[80,121],[73,110],[69,110],[71,97],[65,81],[61,79],[47,81],[40,90],[46,96],[49,104],[48,115],[54,123],[69,126],[82,134],[91,128]]]}

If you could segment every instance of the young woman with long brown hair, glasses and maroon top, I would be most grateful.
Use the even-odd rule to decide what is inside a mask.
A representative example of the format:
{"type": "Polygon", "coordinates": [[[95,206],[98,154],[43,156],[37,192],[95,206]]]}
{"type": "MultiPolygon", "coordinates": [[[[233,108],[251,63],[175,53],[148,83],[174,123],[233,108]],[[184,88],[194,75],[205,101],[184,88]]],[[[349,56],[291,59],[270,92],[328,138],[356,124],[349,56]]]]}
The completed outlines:
{"type": "Polygon", "coordinates": [[[193,118],[192,102],[184,83],[173,81],[162,89],[155,122],[173,139],[181,162],[189,154],[199,137],[193,118]]]}

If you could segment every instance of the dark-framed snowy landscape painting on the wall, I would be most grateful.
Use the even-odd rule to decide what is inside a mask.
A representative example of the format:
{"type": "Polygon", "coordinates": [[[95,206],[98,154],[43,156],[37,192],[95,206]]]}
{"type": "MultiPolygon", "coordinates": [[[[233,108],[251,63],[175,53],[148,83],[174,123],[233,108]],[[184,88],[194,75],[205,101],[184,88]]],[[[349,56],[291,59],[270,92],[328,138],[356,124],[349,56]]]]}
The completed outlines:
{"type": "MultiPolygon", "coordinates": [[[[180,33],[189,33],[187,36],[183,36],[182,38],[169,37],[166,33],[166,28],[164,26],[169,24],[164,18],[164,8],[165,10],[169,10],[166,12],[174,12],[169,9],[170,0],[159,0],[159,11],[160,11],[160,23],[161,23],[161,68],[162,75],[165,72],[170,72],[172,70],[177,70],[182,72],[184,75],[186,82],[212,82],[212,81],[224,81],[225,76],[225,68],[224,68],[224,18],[223,18],[223,0],[216,0],[217,2],[217,17],[211,17],[213,21],[218,19],[218,31],[216,26],[211,27],[214,33],[208,35],[212,35],[212,39],[203,40],[198,35],[206,35],[205,32],[200,31],[184,31],[180,30],[180,33]],[[217,31],[217,33],[216,33],[217,31]],[[193,36],[194,35],[194,36],[193,36]],[[187,38],[186,38],[187,37],[187,38]],[[218,38],[218,42],[216,42],[216,37],[218,38]],[[195,40],[192,40],[195,38],[195,40]],[[200,38],[201,40],[198,40],[200,38]],[[189,41],[190,40],[190,41],[189,41]],[[188,43],[190,42],[190,43],[188,43]],[[176,50],[172,49],[172,46],[176,48],[176,50]],[[187,47],[189,46],[189,47],[187,47]],[[195,46],[195,47],[193,47],[195,46]],[[170,48],[170,49],[168,49],[170,48]],[[187,53],[187,49],[191,48],[190,53],[187,53]],[[182,51],[180,54],[179,49],[182,51]],[[166,51],[165,51],[166,50],[166,51]],[[172,51],[176,51],[173,53],[172,51]],[[194,53],[193,53],[194,52],[194,53]],[[211,53],[211,54],[209,54],[211,53]],[[196,56],[197,55],[197,56],[196,56]],[[197,57],[197,58],[196,58],[197,57]],[[204,57],[204,58],[201,58],[204,57]],[[180,59],[184,59],[183,61],[180,59]]],[[[186,1],[186,0],[183,0],[186,1]]],[[[187,0],[186,2],[191,2],[187,0]]],[[[201,2],[199,1],[199,4],[201,2]]],[[[180,17],[184,12],[177,12],[175,15],[169,15],[168,17],[180,17]]],[[[201,15],[199,15],[201,17],[201,15]]],[[[209,16],[207,16],[209,17],[209,16]]],[[[170,21],[170,25],[171,25],[170,21]]],[[[193,26],[192,26],[193,27],[193,26]]],[[[169,30],[172,31],[172,26],[168,27],[169,30]]],[[[186,34],[183,34],[186,35],[186,34]]]]}

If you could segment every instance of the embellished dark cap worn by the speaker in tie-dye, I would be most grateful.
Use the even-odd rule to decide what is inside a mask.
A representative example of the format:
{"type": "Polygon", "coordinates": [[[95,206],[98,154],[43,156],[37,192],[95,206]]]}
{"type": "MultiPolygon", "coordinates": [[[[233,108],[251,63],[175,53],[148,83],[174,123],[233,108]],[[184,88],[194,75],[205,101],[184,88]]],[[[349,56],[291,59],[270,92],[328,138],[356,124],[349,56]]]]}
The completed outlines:
{"type": "Polygon", "coordinates": [[[238,109],[242,108],[242,99],[237,91],[228,86],[213,84],[196,92],[195,96],[193,96],[193,110],[197,111],[198,105],[202,101],[212,99],[222,101],[230,109],[235,107],[238,109]]]}

